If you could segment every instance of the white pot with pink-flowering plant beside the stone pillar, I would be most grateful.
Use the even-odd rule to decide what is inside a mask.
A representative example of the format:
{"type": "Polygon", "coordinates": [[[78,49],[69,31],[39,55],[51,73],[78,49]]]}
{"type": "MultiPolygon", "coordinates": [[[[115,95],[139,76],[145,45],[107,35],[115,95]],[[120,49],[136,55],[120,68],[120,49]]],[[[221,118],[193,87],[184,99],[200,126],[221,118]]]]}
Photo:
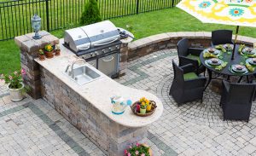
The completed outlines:
{"type": "Polygon", "coordinates": [[[22,83],[22,75],[26,74],[25,70],[15,71],[10,74],[1,74],[0,79],[8,84],[10,99],[12,101],[21,101],[25,91],[24,84],[22,83]]]}

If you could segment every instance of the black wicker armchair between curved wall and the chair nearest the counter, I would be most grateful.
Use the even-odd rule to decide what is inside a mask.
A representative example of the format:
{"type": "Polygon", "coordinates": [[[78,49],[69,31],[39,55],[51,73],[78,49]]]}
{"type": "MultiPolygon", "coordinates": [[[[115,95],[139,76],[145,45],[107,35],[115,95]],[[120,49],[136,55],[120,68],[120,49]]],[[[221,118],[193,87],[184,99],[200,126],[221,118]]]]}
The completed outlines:
{"type": "Polygon", "coordinates": [[[201,64],[200,55],[204,49],[189,48],[189,39],[183,38],[177,43],[178,66],[184,66],[189,63],[195,66],[196,72],[206,71],[206,67],[201,64]]]}

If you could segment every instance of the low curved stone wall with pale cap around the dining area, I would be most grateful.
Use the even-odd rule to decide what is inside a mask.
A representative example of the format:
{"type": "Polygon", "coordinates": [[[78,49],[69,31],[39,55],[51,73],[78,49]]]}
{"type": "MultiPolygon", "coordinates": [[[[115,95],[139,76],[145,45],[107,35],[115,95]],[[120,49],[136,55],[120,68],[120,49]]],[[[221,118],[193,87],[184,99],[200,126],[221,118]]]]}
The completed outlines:
{"type": "MultiPolygon", "coordinates": [[[[143,55],[148,55],[161,49],[176,49],[177,42],[182,38],[189,38],[191,47],[207,48],[211,45],[211,32],[167,32],[147,38],[138,39],[129,43],[128,61],[135,60],[143,55]]],[[[233,39],[235,36],[233,36],[233,39]]],[[[237,43],[253,46],[256,38],[238,36],[237,43]]]]}

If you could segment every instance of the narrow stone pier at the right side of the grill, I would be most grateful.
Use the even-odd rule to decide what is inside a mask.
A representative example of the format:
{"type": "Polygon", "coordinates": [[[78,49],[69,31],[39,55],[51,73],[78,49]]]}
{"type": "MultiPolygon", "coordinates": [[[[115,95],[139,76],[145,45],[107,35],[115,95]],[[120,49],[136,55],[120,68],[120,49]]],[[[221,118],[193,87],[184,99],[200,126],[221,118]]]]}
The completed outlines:
{"type": "Polygon", "coordinates": [[[128,43],[122,43],[120,49],[119,77],[125,75],[128,61],[128,43]]]}

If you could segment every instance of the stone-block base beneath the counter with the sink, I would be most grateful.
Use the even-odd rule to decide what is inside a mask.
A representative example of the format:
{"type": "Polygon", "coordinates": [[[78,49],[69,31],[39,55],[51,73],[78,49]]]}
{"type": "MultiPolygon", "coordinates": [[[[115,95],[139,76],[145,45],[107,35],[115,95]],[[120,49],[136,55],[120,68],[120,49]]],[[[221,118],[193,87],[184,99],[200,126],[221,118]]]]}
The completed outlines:
{"type": "Polygon", "coordinates": [[[131,143],[140,142],[147,137],[147,127],[129,128],[113,122],[42,66],[40,73],[44,101],[107,155],[123,155],[131,143]]]}

